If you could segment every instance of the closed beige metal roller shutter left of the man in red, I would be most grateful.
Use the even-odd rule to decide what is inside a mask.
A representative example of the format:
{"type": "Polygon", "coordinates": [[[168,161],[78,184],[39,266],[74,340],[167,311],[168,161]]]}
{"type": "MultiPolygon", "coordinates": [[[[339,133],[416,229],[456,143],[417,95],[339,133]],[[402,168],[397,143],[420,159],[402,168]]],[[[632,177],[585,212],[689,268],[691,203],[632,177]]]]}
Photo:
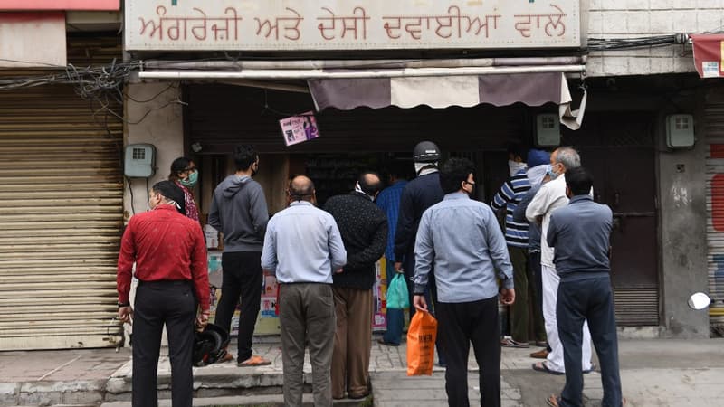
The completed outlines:
{"type": "Polygon", "coordinates": [[[0,350],[119,344],[122,132],[71,87],[0,91],[0,350]]]}

